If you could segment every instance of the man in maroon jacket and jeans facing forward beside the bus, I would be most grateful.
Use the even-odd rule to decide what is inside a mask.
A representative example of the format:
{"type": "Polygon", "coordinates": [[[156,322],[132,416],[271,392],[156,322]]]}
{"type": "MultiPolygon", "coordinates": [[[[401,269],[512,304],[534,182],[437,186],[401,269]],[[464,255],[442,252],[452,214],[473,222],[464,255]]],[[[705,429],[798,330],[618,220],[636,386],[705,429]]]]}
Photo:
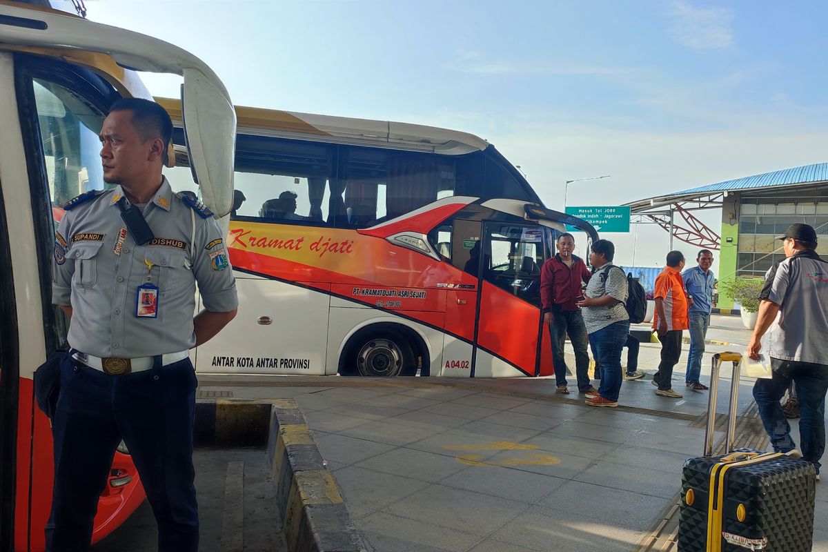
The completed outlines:
{"type": "Polygon", "coordinates": [[[586,353],[586,327],[580,310],[575,302],[581,293],[581,282],[590,281],[590,271],[572,251],[575,238],[570,233],[563,233],[557,242],[558,254],[545,263],[541,269],[541,300],[543,302],[543,321],[549,325],[552,341],[552,362],[555,367],[555,379],[558,392],[569,394],[566,387],[566,360],[564,359],[564,338],[569,334],[572,348],[575,350],[575,375],[578,391],[595,393],[590,384],[590,357],[586,353]]]}

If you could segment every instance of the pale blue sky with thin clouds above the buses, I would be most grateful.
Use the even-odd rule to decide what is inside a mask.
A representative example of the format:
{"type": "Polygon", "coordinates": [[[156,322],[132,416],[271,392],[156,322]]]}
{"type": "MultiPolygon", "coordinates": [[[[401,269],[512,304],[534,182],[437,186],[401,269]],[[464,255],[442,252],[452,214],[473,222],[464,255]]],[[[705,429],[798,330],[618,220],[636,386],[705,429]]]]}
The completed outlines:
{"type": "MultiPolygon", "coordinates": [[[[566,180],[609,175],[567,203],[614,205],[826,161],[822,2],[85,3],[198,55],[238,105],[471,132],[552,209],[566,180]]],[[[179,79],[144,80],[178,95],[179,79]]],[[[652,225],[604,237],[625,265],[633,243],[638,266],[669,246],[652,225]]]]}

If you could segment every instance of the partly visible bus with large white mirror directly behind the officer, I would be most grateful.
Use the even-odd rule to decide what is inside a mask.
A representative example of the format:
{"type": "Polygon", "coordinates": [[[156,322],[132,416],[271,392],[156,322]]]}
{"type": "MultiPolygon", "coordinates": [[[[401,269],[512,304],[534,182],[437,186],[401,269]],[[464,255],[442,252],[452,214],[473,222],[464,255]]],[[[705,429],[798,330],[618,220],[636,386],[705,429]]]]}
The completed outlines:
{"type": "MultiPolygon", "coordinates": [[[[45,548],[51,428],[34,401],[32,374],[65,344],[66,321],[51,305],[55,222],[65,201],[103,186],[98,134],[109,105],[122,96],[152,98],[125,67],[183,74],[194,174],[205,202],[217,213],[229,212],[235,113],[204,63],[149,36],[0,1],[2,552],[45,548]]],[[[94,540],[120,525],[144,496],[121,447],[99,500],[94,540]]]]}

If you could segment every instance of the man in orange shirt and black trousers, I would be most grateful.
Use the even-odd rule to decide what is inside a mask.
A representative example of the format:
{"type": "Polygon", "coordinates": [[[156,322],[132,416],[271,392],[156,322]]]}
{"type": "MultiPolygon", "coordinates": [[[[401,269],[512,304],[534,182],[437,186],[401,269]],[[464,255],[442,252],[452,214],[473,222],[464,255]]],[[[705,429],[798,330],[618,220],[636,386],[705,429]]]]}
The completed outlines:
{"type": "Polygon", "coordinates": [[[656,278],[656,315],[652,327],[658,331],[658,340],[662,342],[662,362],[658,372],[652,377],[652,385],[658,386],[656,395],[681,399],[681,395],[672,389],[672,369],[681,357],[681,333],[690,326],[687,322],[687,294],[681,270],[684,268],[684,255],[680,251],[667,253],[667,266],[656,278]]]}

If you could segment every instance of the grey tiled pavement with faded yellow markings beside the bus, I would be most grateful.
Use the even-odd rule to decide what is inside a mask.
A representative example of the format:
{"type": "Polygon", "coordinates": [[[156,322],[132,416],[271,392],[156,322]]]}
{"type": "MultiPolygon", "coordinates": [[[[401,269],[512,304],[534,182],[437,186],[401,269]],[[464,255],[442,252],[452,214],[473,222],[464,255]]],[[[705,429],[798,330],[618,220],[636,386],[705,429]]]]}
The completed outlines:
{"type": "MultiPolygon", "coordinates": [[[[715,315],[708,338],[732,345],[708,350],[744,350],[749,334],[736,323],[715,315]]],[[[657,353],[657,344],[643,345],[640,369],[652,373],[657,353]]],[[[224,389],[296,399],[371,550],[620,552],[652,529],[676,496],[682,463],[702,449],[703,430],[690,424],[707,394],[681,385],[682,366],[681,400],[656,396],[649,375],[624,382],[620,403],[652,410],[635,412],[596,410],[571,401],[576,394],[561,401],[546,378],[359,386],[318,378],[315,387],[224,389]]],[[[740,387],[740,410],[750,383],[740,387]]],[[[817,488],[817,528],[828,527],[825,484],[817,488]]],[[[814,550],[828,552],[828,531],[816,530],[814,550]]]]}

